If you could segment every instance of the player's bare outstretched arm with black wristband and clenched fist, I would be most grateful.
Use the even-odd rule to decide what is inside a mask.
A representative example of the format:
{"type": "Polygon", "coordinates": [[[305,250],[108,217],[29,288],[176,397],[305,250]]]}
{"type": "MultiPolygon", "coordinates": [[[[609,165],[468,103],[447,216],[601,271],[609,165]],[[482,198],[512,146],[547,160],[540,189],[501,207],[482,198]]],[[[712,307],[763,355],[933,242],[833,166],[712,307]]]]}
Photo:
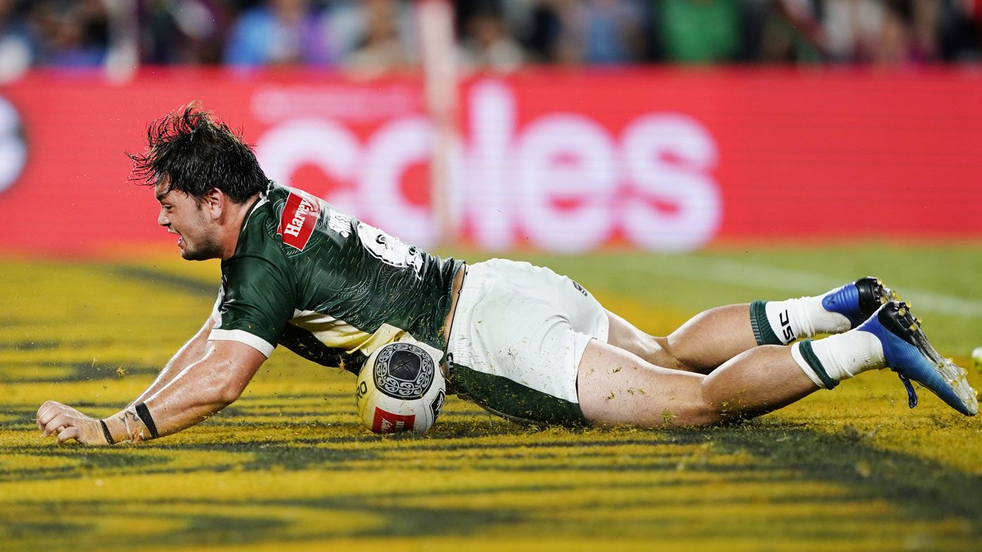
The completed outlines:
{"type": "Polygon", "coordinates": [[[87,445],[142,441],[191,427],[234,403],[266,358],[235,341],[208,341],[204,356],[146,401],[104,420],[48,401],[37,411],[44,435],[87,445]]]}

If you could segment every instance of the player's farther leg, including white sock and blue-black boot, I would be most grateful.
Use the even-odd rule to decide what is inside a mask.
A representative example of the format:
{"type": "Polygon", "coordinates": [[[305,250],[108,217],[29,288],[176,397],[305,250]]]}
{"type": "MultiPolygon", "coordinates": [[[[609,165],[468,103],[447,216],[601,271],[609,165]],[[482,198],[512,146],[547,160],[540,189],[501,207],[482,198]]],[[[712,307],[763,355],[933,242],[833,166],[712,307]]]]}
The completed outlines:
{"type": "Polygon", "coordinates": [[[845,332],[896,297],[876,278],[861,278],[821,296],[711,308],[668,337],[648,335],[608,311],[608,343],[658,366],[709,373],[759,345],[845,332]]]}

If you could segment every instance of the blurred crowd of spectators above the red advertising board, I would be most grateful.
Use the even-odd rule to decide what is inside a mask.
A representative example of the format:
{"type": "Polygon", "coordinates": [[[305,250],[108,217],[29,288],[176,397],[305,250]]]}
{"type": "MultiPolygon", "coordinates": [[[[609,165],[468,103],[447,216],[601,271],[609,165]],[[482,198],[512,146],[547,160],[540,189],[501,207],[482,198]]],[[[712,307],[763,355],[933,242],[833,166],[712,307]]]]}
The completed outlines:
{"type": "MultiPolygon", "coordinates": [[[[931,64],[982,59],[982,0],[452,0],[458,59],[931,64]]],[[[29,67],[418,63],[409,0],[0,0],[0,79],[29,67]]]]}

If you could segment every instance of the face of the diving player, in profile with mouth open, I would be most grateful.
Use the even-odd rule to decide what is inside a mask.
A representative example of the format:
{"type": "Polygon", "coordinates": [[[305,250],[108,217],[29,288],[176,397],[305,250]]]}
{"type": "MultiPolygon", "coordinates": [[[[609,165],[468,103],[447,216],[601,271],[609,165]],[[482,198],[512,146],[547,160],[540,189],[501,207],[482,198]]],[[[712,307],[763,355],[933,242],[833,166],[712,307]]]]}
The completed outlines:
{"type": "Polygon", "coordinates": [[[213,232],[213,223],[201,204],[191,195],[176,190],[166,192],[166,185],[154,187],[160,201],[160,214],[157,224],[167,228],[170,234],[178,235],[178,248],[187,260],[204,260],[221,256],[213,232]]]}

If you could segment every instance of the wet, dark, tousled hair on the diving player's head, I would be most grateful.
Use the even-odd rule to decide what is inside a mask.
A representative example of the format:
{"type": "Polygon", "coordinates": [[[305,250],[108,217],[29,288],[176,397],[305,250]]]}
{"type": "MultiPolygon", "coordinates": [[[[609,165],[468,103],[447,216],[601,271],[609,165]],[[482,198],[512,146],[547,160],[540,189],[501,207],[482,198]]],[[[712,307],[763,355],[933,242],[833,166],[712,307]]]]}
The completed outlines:
{"type": "Polygon", "coordinates": [[[164,193],[177,190],[200,203],[218,189],[245,203],[269,181],[241,135],[192,102],[147,126],[145,153],[126,152],[133,159],[130,180],[155,186],[166,177],[164,193]]]}

